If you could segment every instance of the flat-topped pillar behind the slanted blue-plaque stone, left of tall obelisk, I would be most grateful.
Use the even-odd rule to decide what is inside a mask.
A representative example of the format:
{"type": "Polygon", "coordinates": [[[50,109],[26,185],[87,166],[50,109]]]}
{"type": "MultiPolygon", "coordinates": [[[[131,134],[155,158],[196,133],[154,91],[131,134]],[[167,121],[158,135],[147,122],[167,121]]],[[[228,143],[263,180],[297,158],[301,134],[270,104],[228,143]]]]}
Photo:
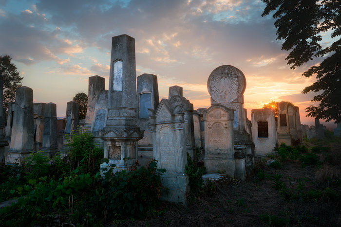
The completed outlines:
{"type": "Polygon", "coordinates": [[[88,85],[88,108],[85,116],[84,128],[91,131],[93,118],[95,116],[95,105],[97,95],[105,89],[105,78],[100,76],[90,76],[88,85]]]}

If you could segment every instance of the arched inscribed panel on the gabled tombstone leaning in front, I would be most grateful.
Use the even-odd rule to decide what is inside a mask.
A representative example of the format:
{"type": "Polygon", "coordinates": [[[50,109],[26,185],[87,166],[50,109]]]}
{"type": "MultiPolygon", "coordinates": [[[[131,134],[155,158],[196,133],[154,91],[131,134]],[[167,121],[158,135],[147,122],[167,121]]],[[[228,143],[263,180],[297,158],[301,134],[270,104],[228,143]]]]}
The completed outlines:
{"type": "Polygon", "coordinates": [[[173,132],[169,127],[163,127],[159,133],[159,151],[161,166],[167,171],[176,171],[173,132]]]}

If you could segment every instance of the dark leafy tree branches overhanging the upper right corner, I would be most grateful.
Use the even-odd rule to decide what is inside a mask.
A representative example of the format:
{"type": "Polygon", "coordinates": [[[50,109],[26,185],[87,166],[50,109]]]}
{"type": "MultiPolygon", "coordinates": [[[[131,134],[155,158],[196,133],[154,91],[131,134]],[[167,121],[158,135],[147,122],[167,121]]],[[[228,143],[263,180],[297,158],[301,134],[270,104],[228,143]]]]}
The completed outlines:
{"type": "Polygon", "coordinates": [[[312,102],[320,102],[306,108],[307,116],[341,122],[341,0],[262,1],[266,4],[262,17],[275,11],[277,39],[284,39],[282,50],[290,51],[285,60],[291,69],[321,57],[320,64],[303,73],[316,75],[317,81],[302,92],[319,92],[312,102]],[[330,42],[322,44],[322,35],[328,34],[330,42]]]}

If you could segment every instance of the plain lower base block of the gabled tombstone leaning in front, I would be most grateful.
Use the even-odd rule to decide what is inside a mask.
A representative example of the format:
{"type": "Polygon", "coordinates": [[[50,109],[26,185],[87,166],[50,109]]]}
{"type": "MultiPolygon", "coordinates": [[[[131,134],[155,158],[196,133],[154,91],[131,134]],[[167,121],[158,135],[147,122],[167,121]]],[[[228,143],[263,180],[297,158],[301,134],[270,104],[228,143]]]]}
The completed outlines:
{"type": "Polygon", "coordinates": [[[166,189],[161,191],[160,199],[186,205],[186,192],[189,191],[188,175],[166,172],[161,175],[161,179],[162,186],[166,189]]]}

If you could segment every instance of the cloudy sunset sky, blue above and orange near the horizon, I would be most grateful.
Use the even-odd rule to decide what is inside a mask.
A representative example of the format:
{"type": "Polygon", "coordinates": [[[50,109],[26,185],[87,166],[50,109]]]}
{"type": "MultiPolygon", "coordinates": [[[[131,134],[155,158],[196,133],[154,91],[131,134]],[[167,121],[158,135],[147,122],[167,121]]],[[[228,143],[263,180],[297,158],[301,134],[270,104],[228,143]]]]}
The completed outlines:
{"type": "Polygon", "coordinates": [[[264,7],[260,0],[0,0],[0,55],[13,58],[34,102],[56,103],[62,117],[77,92],[88,93],[89,76],[105,77],[108,89],[112,37],[127,34],[135,38],[136,76],[157,75],[160,99],[178,85],[195,109],[209,107],[209,74],[232,65],[246,76],[248,119],[271,100],[289,101],[311,125],[304,108],[313,94],[301,91],[315,78],[302,73],[321,59],[290,70],[264,7]]]}

